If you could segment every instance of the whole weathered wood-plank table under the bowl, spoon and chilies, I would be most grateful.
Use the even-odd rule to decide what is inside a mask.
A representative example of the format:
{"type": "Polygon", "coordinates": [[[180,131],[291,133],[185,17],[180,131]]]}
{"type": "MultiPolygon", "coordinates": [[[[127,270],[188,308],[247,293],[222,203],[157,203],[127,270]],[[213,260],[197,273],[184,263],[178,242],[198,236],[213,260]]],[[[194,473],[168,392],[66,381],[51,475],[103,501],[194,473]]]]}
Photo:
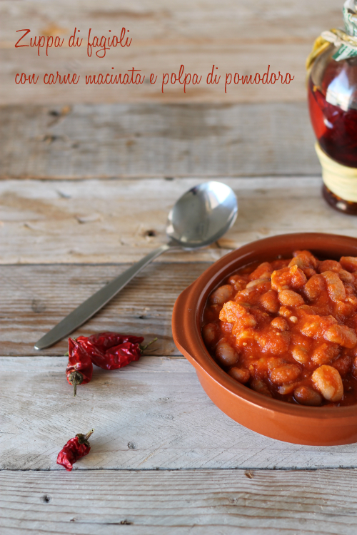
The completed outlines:
{"type": "MultiPolygon", "coordinates": [[[[90,20],[98,4],[86,4],[51,4],[57,26],[73,25],[76,9],[90,20]]],[[[120,2],[103,4],[96,16],[106,28],[120,2]]],[[[356,534],[357,444],[298,446],[241,427],[208,399],[171,337],[177,295],[229,250],[279,233],[357,231],[356,218],[333,211],[321,198],[301,68],[316,36],[314,17],[323,14],[318,31],[333,26],[340,3],[311,6],[306,0],[297,8],[263,1],[259,15],[237,4],[225,0],[220,11],[208,0],[171,6],[139,1],[125,6],[121,16],[142,28],[138,58],[148,46],[157,51],[160,42],[171,39],[167,57],[159,60],[166,66],[175,47],[181,52],[191,47],[192,54],[206,57],[216,46],[226,63],[238,47],[238,57],[246,58],[239,46],[252,39],[257,61],[273,56],[300,69],[291,91],[259,89],[226,98],[207,89],[186,100],[170,93],[165,103],[150,88],[136,101],[124,95],[121,103],[100,92],[80,101],[78,93],[60,100],[56,91],[29,91],[21,101],[11,85],[11,69],[5,68],[1,534],[356,534]],[[228,7],[238,10],[239,36],[228,7]],[[281,17],[280,25],[271,14],[281,17]],[[263,21],[261,42],[246,30],[257,16],[263,21]],[[195,17],[200,23],[192,29],[188,23],[195,17]],[[221,33],[212,44],[213,19],[221,33]],[[286,30],[289,21],[295,40],[286,30]],[[185,43],[175,34],[178,27],[186,29],[185,43]],[[282,44],[288,47],[284,54],[282,44]],[[164,243],[169,208],[207,178],[222,180],[238,195],[235,225],[211,248],[162,256],[74,332],[76,337],[119,330],[159,338],[149,355],[123,370],[96,368],[91,384],[79,387],[74,398],[64,377],[66,342],[42,352],[34,350],[34,342],[164,243]],[[96,429],[91,453],[65,472],[56,464],[59,450],[91,427],[96,429]]],[[[44,19],[51,22],[48,5],[38,1],[5,0],[0,9],[8,16],[9,32],[31,10],[33,20],[36,9],[41,15],[47,10],[47,19],[38,16],[39,28],[44,19]]],[[[16,66],[14,50],[6,44],[11,39],[9,33],[1,41],[4,64],[16,66]]]]}

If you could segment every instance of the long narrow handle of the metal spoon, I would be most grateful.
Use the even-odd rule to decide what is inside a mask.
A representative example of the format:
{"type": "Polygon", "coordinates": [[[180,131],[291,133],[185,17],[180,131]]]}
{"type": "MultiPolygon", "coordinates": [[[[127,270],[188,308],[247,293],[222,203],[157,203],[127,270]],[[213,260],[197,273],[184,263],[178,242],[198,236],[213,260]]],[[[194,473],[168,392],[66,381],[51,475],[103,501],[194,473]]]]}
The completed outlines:
{"type": "Polygon", "coordinates": [[[146,265],[152,262],[155,258],[165,251],[175,248],[173,243],[165,243],[161,247],[151,251],[149,255],[144,256],[139,262],[132,265],[121,273],[119,277],[109,282],[106,286],[102,287],[98,292],[89,297],[86,301],[82,302],[79,307],[73,310],[68,316],[66,316],[61,322],[59,322],[53,329],[44,335],[41,340],[36,342],[35,350],[44,350],[46,347],[56,344],[62,338],[68,336],[76,330],[78,327],[84,324],[90,317],[92,317],[101,307],[104,307],[107,302],[116,295],[121,288],[124,288],[135,277],[139,271],[143,270],[146,265]]]}

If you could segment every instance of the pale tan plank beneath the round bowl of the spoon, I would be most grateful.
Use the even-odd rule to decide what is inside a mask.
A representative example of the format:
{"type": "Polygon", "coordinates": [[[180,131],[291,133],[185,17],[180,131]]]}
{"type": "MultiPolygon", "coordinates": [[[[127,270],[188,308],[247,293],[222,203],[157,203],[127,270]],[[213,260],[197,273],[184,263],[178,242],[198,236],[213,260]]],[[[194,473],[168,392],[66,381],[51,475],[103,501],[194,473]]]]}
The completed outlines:
{"type": "MultiPolygon", "coordinates": [[[[0,181],[0,263],[131,263],[165,243],[175,200],[203,180],[0,181]],[[154,234],[154,236],[152,236],[154,234]]],[[[194,253],[158,262],[213,262],[269,235],[356,235],[357,220],[330,208],[319,178],[223,178],[238,195],[233,228],[194,253]]]]}

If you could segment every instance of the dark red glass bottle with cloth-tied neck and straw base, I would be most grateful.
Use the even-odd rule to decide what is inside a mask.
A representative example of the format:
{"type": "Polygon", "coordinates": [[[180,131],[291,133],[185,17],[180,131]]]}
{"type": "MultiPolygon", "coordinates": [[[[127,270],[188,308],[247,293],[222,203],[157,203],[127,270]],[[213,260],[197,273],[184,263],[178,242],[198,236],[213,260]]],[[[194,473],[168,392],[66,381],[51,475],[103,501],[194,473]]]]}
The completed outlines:
{"type": "Polygon", "coordinates": [[[345,2],[343,19],[345,30],[323,32],[308,58],[308,107],[323,196],[357,215],[357,0],[345,2]]]}

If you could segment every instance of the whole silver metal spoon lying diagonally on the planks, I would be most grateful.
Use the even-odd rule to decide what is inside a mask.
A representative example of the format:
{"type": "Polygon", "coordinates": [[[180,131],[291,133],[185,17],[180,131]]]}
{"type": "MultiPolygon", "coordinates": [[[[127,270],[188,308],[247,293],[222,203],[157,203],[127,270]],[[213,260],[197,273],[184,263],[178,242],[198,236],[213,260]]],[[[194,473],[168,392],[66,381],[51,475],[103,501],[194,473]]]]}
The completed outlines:
{"type": "Polygon", "coordinates": [[[169,213],[166,228],[169,243],[146,255],[89,297],[36,342],[35,349],[44,350],[70,335],[104,307],[139,271],[165,251],[194,250],[214,243],[231,228],[237,213],[236,195],[226,184],[205,182],[188,190],[169,213]]]}

